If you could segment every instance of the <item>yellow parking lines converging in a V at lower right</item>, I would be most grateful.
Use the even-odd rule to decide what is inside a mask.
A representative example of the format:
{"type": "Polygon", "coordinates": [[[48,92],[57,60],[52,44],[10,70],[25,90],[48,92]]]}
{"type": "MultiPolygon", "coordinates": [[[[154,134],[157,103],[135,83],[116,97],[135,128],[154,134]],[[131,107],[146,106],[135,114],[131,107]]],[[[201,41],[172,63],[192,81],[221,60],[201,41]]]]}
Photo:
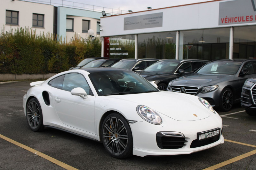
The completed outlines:
{"type": "MultiPolygon", "coordinates": [[[[236,141],[227,140],[227,139],[225,139],[225,141],[227,141],[227,142],[232,142],[232,143],[235,143],[235,144],[242,144],[242,145],[246,145],[246,146],[251,146],[251,147],[256,148],[256,146],[255,146],[255,145],[252,145],[252,144],[245,144],[245,143],[236,142],[236,141]]],[[[256,150],[253,150],[253,151],[251,151],[251,152],[244,153],[243,155],[239,155],[239,156],[237,156],[237,157],[235,157],[235,158],[232,158],[232,159],[226,160],[226,161],[224,161],[224,162],[221,162],[221,163],[219,163],[219,164],[210,166],[210,167],[208,167],[208,168],[205,168],[204,170],[214,170],[214,169],[218,169],[218,168],[220,168],[220,167],[222,167],[222,166],[226,166],[226,165],[228,165],[228,164],[234,163],[234,162],[236,162],[236,161],[238,161],[238,160],[244,159],[244,158],[246,158],[246,157],[248,157],[248,156],[251,156],[251,155],[254,155],[254,154],[256,154],[256,150]]]]}

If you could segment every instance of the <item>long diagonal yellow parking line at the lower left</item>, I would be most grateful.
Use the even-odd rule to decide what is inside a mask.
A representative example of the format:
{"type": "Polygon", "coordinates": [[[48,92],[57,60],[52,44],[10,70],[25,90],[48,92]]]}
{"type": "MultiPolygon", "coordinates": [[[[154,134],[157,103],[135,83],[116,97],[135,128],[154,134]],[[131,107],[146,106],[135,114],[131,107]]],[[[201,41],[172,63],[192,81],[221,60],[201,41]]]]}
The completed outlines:
{"type": "Polygon", "coordinates": [[[76,170],[76,168],[74,168],[74,167],[72,167],[72,166],[69,166],[69,165],[67,165],[67,164],[65,164],[65,163],[63,163],[63,162],[60,162],[60,161],[57,160],[57,159],[54,159],[54,158],[52,158],[52,157],[50,157],[50,156],[48,156],[48,155],[45,155],[45,154],[42,153],[42,152],[36,151],[35,149],[32,149],[32,148],[30,148],[30,147],[28,147],[28,146],[26,146],[26,145],[24,145],[24,144],[21,144],[21,143],[19,143],[19,142],[16,142],[16,141],[14,141],[14,140],[12,140],[12,139],[10,139],[10,138],[8,138],[8,137],[5,137],[5,136],[3,136],[3,135],[1,135],[1,134],[0,134],[0,137],[1,137],[2,139],[6,140],[6,141],[8,141],[8,142],[10,142],[10,143],[12,143],[12,144],[15,144],[15,145],[17,145],[17,146],[19,146],[19,147],[21,147],[21,148],[23,148],[23,149],[28,150],[29,152],[32,152],[32,153],[34,153],[34,154],[36,154],[36,155],[38,155],[38,156],[41,156],[42,158],[47,159],[47,160],[51,161],[52,163],[54,163],[54,164],[56,164],[56,165],[58,165],[58,166],[61,166],[61,167],[65,168],[65,169],[68,169],[68,170],[76,170]]]}

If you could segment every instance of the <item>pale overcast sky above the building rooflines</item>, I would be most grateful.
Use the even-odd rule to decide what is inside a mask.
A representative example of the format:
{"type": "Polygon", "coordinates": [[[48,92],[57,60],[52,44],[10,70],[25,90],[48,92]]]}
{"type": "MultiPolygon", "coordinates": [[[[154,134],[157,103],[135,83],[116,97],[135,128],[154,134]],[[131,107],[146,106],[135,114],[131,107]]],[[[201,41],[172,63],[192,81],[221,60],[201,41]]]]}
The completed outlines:
{"type": "MultiPolygon", "coordinates": [[[[64,1],[64,0],[63,0],[64,1]]],[[[119,10],[132,10],[133,12],[148,10],[147,7],[152,9],[164,8],[183,4],[193,4],[197,2],[205,2],[210,0],[67,0],[78,2],[82,4],[90,4],[105,8],[114,8],[119,10]]]]}

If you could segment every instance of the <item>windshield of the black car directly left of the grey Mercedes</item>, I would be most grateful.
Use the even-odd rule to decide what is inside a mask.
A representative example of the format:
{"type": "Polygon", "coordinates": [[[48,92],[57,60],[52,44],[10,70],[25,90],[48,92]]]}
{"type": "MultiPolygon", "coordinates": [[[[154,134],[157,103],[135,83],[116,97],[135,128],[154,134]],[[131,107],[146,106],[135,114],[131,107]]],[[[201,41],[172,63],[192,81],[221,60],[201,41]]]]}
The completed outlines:
{"type": "Polygon", "coordinates": [[[159,61],[150,65],[143,71],[172,72],[178,64],[178,62],[174,61],[159,61]]]}

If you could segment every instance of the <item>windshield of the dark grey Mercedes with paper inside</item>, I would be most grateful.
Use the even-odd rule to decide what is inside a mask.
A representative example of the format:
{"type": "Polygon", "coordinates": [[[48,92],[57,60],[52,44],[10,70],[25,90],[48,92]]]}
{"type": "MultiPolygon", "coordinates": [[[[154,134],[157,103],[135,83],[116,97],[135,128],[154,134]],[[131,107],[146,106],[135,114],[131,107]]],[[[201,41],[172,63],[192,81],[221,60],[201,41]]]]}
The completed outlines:
{"type": "Polygon", "coordinates": [[[241,62],[212,62],[204,65],[197,71],[199,74],[236,74],[241,62]]]}

